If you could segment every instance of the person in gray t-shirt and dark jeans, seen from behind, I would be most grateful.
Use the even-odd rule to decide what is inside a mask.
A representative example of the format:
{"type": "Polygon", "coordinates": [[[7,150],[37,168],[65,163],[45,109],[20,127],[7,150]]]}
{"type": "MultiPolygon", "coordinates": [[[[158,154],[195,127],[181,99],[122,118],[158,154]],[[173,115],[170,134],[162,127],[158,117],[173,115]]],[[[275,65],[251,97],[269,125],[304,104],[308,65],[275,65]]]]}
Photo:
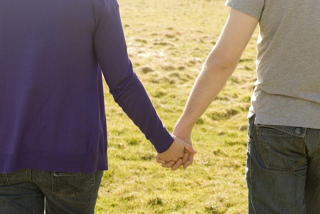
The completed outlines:
{"type": "MultiPolygon", "coordinates": [[[[225,4],[231,7],[226,24],[173,134],[191,143],[193,125],[223,88],[259,23],[248,113],[248,212],[320,213],[320,1],[225,4]]],[[[189,158],[183,167],[191,163],[189,158]]]]}

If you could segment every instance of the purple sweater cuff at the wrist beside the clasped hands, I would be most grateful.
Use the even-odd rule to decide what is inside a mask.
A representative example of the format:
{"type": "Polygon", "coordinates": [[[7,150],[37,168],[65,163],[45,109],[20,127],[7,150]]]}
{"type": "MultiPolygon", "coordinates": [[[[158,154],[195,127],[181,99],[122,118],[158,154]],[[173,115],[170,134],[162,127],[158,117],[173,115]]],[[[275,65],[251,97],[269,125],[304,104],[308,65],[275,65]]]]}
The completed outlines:
{"type": "Polygon", "coordinates": [[[156,152],[162,153],[171,146],[173,140],[174,136],[163,125],[163,131],[156,138],[151,139],[150,142],[153,144],[156,152]]]}

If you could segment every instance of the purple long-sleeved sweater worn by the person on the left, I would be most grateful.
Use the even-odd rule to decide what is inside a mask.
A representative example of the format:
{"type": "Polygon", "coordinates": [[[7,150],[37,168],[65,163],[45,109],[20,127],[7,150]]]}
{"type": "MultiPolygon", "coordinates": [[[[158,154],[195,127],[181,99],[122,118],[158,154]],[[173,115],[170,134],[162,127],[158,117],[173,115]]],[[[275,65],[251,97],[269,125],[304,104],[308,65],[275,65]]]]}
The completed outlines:
{"type": "Polygon", "coordinates": [[[0,173],[107,169],[101,69],[165,151],[173,137],[132,69],[116,0],[0,0],[0,173]]]}

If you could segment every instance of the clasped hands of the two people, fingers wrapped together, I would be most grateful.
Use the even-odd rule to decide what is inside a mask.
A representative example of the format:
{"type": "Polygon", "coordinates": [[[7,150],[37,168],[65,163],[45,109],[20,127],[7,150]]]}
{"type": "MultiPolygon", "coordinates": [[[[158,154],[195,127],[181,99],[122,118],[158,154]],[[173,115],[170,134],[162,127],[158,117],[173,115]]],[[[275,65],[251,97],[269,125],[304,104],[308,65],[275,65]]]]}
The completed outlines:
{"type": "Polygon", "coordinates": [[[170,167],[171,170],[176,170],[188,160],[189,154],[194,153],[196,151],[190,144],[179,137],[175,137],[171,146],[166,151],[157,153],[155,159],[158,163],[161,163],[162,167],[170,167]]]}

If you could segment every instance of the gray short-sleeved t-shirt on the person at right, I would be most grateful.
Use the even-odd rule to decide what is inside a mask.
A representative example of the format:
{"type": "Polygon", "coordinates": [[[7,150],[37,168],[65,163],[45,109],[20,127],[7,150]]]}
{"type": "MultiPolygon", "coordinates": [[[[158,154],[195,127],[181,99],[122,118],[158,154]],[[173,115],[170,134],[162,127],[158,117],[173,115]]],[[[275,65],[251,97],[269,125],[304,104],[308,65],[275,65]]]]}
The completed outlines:
{"type": "Polygon", "coordinates": [[[320,1],[226,0],[259,19],[255,124],[320,129],[320,1]]]}

